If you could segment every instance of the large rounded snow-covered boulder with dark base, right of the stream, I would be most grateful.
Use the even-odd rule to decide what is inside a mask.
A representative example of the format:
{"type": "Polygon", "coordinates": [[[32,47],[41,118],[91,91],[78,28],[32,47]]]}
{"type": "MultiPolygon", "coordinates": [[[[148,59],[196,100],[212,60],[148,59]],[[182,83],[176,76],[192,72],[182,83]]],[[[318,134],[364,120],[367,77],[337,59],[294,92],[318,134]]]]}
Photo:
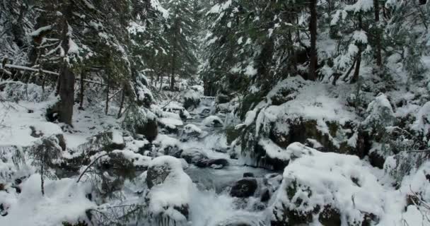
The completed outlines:
{"type": "Polygon", "coordinates": [[[383,194],[359,157],[312,150],[285,168],[271,207],[272,225],[371,225],[383,215],[383,194]]]}

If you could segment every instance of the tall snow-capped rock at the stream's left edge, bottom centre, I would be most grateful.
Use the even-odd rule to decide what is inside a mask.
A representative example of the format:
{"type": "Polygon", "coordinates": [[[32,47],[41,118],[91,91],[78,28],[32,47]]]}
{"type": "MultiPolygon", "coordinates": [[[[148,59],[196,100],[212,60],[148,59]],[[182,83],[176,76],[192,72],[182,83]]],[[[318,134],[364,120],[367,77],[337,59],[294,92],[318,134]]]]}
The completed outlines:
{"type": "Polygon", "coordinates": [[[192,180],[182,170],[180,160],[171,156],[153,159],[146,176],[149,193],[149,224],[188,225],[192,180]]]}

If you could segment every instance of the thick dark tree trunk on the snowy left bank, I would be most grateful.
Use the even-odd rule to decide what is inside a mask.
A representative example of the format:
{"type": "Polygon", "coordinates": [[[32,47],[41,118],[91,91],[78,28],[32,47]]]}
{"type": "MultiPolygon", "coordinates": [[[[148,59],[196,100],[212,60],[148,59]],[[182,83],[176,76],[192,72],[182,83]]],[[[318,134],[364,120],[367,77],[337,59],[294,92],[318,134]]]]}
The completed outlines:
{"type": "Polygon", "coordinates": [[[66,54],[62,62],[62,68],[59,73],[59,121],[71,125],[73,118],[74,106],[74,86],[75,75],[69,67],[69,62],[66,60],[67,52],[69,52],[69,23],[67,18],[71,18],[71,2],[64,3],[64,12],[62,13],[62,48],[66,54]]]}

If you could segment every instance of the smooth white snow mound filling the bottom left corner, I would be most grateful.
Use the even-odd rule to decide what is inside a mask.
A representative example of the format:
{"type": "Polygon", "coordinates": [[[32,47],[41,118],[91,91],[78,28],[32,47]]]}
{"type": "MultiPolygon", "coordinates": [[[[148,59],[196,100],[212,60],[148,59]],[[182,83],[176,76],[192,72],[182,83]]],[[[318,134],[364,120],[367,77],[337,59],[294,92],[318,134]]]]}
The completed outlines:
{"type": "Polygon", "coordinates": [[[40,174],[33,174],[23,182],[21,190],[21,194],[0,191],[0,200],[8,208],[0,225],[57,226],[64,221],[86,220],[85,211],[95,208],[95,203],[86,198],[91,184],[76,183],[75,179],[45,179],[42,196],[40,174]]]}

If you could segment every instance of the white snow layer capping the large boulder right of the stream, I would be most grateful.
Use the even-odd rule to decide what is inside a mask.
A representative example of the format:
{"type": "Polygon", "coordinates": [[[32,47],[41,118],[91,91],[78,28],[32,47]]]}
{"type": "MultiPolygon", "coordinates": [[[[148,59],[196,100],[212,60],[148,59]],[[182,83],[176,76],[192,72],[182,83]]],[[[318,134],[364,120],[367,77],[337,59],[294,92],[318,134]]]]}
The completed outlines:
{"type": "Polygon", "coordinates": [[[359,157],[317,150],[311,153],[298,157],[285,168],[272,207],[275,215],[281,214],[277,210],[282,210],[282,206],[308,212],[327,205],[337,208],[341,218],[350,223],[361,222],[364,213],[383,215],[383,186],[359,157]],[[294,187],[294,194],[287,194],[289,187],[294,187]],[[299,198],[300,203],[307,205],[296,204],[299,198]]]}

